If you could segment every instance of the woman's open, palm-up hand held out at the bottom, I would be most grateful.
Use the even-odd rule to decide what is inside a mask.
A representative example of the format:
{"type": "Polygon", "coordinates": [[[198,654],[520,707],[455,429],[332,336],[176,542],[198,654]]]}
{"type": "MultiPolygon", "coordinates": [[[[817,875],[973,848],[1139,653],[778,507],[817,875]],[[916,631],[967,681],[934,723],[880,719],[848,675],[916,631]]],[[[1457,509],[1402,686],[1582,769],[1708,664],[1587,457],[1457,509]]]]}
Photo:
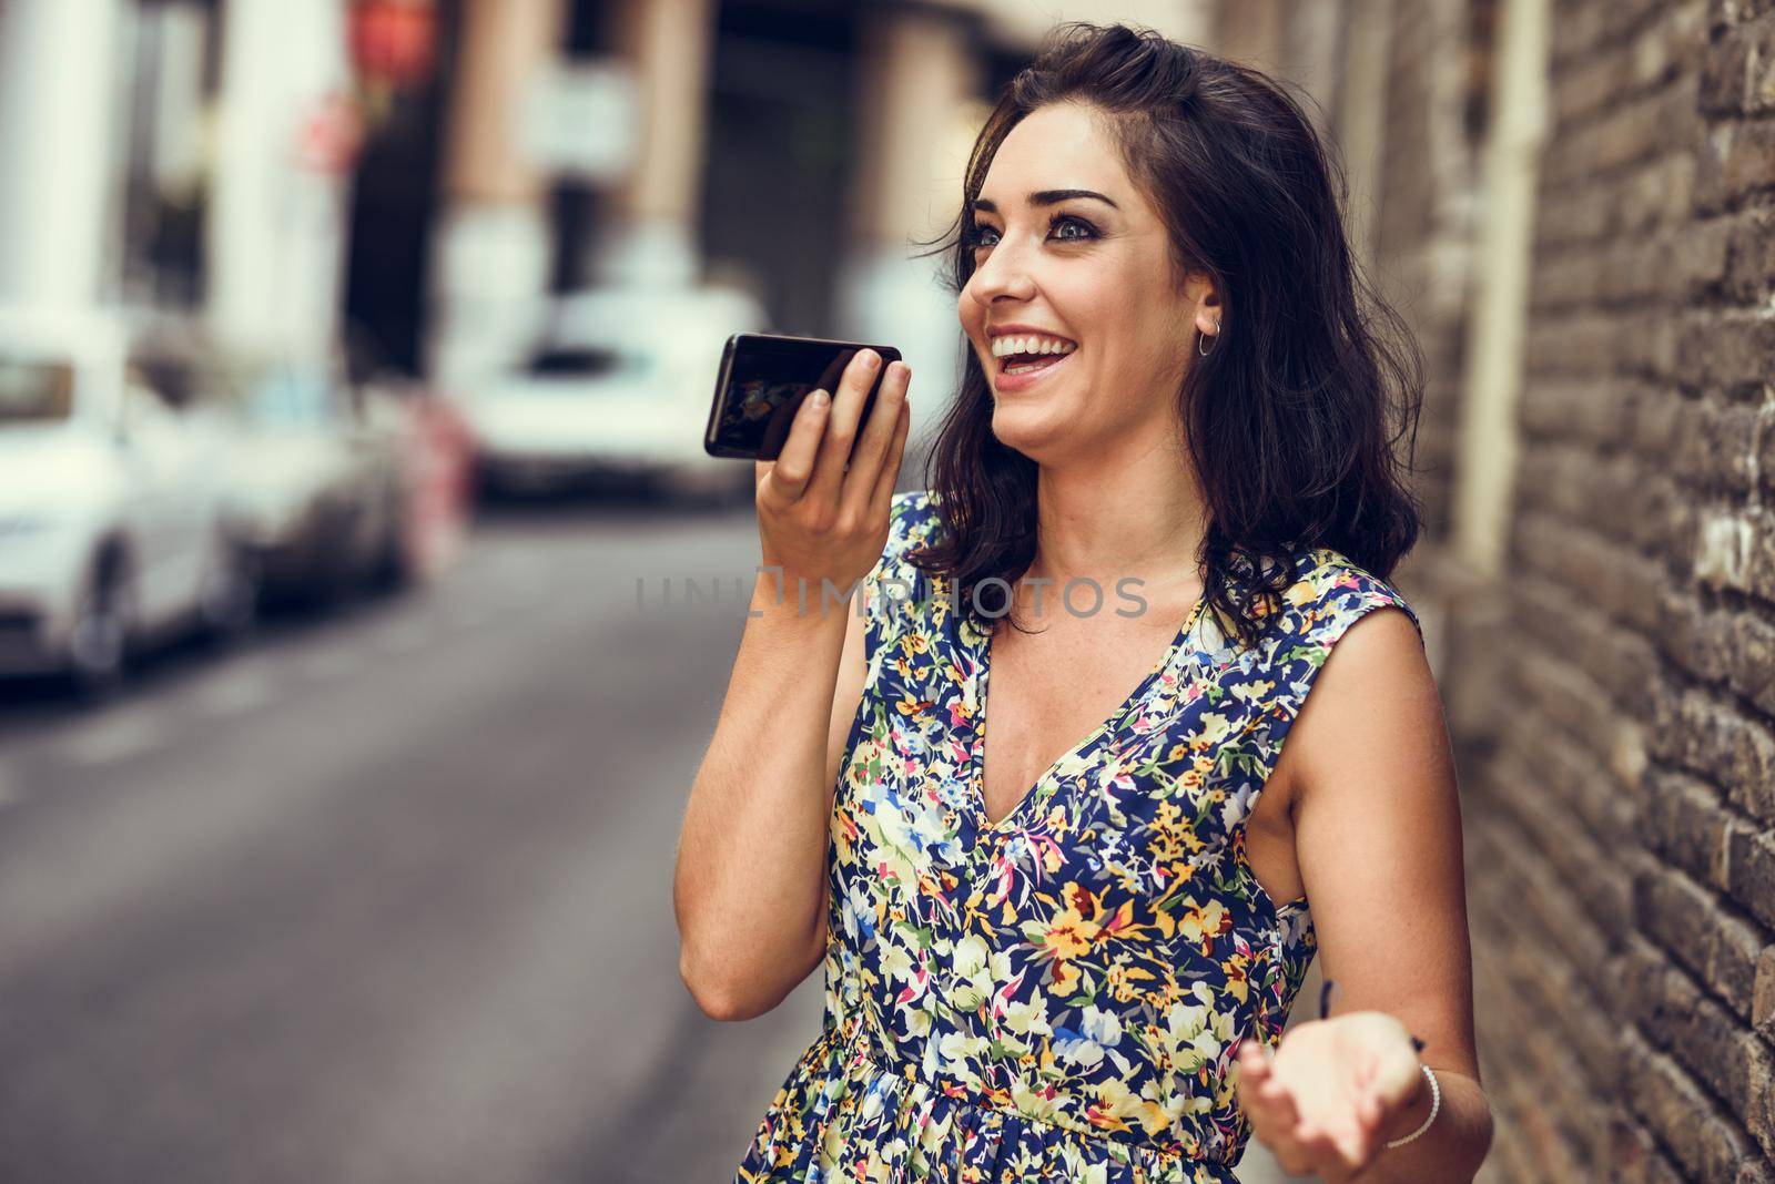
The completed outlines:
{"type": "Polygon", "coordinates": [[[1239,1046],[1239,1104],[1283,1172],[1345,1184],[1429,1090],[1418,1063],[1411,1033],[1386,1012],[1310,1019],[1283,1033],[1274,1056],[1257,1039],[1239,1046]]]}

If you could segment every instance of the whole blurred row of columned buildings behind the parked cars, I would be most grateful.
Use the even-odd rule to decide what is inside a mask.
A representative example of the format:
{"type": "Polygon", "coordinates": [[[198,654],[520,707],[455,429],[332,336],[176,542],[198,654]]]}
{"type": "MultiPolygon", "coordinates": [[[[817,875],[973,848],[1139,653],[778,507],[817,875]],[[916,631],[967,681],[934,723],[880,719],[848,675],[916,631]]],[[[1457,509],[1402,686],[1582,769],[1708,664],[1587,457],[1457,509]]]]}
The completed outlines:
{"type": "MultiPolygon", "coordinates": [[[[1186,39],[1198,0],[1070,5],[1186,39]]],[[[474,385],[548,296],[724,284],[955,385],[944,255],[1017,0],[9,0],[0,300],[474,385]]]]}

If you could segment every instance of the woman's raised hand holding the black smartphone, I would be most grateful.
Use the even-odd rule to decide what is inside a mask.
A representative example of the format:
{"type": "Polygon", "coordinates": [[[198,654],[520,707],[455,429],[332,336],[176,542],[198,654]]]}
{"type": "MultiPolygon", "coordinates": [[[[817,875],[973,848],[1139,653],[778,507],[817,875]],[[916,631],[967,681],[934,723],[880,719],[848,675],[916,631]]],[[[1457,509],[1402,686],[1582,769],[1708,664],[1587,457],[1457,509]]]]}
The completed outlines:
{"type": "Polygon", "coordinates": [[[888,514],[912,418],[912,370],[903,362],[888,367],[870,422],[859,425],[879,365],[880,354],[859,349],[838,379],[836,399],[825,406],[818,392],[802,399],[777,459],[754,461],[763,565],[777,569],[785,597],[806,581],[806,601],[797,603],[824,604],[822,580],[848,590],[870,574],[888,544],[888,514]]]}

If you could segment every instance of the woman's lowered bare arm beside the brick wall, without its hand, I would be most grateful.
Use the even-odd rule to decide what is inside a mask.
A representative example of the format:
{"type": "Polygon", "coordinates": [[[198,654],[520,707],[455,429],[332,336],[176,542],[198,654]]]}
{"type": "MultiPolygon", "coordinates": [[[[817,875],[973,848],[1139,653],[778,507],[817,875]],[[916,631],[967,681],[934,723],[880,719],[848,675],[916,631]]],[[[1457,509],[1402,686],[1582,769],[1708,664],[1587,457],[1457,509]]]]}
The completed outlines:
{"type": "MultiPolygon", "coordinates": [[[[1361,1180],[1466,1182],[1491,1145],[1479,1078],[1461,860],[1461,801],[1441,700],[1402,611],[1351,626],[1294,723],[1278,773],[1290,780],[1296,854],[1338,1012],[1377,1010],[1425,1040],[1441,1110],[1411,1143],[1384,1149],[1361,1180]]],[[[1381,1140],[1415,1131],[1429,1083],[1381,1140]]]]}

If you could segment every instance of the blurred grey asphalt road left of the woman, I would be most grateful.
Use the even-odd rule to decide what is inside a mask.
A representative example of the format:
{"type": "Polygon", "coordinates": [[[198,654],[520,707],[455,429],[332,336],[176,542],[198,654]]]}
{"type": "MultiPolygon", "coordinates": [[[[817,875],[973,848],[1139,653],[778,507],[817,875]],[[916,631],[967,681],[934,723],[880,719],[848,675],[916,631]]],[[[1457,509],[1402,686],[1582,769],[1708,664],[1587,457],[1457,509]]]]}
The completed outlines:
{"type": "Polygon", "coordinates": [[[744,1024],[676,975],[756,548],[504,512],[108,707],[0,693],[0,1180],[731,1180],[820,1019],[818,975],[744,1024]]]}

